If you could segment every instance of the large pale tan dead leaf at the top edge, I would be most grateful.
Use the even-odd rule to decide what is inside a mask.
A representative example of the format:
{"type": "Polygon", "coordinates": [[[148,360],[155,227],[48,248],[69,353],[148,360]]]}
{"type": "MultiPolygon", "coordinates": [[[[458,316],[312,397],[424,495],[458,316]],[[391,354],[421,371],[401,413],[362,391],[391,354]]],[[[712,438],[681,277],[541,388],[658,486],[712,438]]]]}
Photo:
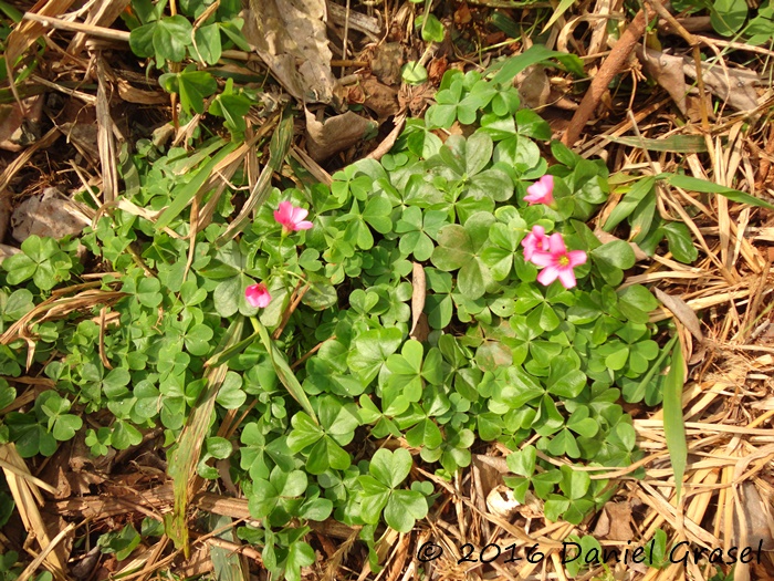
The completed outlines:
{"type": "Polygon", "coordinates": [[[250,0],[243,33],[280,84],[304,103],[333,103],[325,0],[250,0]]]}

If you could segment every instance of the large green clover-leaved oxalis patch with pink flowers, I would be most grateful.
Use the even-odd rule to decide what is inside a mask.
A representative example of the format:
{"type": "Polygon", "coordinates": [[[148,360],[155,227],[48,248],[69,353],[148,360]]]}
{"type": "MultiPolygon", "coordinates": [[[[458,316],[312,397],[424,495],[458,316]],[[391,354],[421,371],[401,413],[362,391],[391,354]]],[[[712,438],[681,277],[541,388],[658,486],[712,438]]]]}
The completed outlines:
{"type": "MultiPolygon", "coordinates": [[[[495,81],[448,72],[380,162],[330,186],[266,188],[253,219],[233,221],[247,178],[205,189],[199,231],[186,206],[238,144],[140,142],[123,158],[126,204],[81,238],[104,273],[70,292],[100,291],[100,304],[29,318],[82,282],[74,240],[31,237],[2,263],[4,331],[27,317],[34,341],[0,344],[1,373],[43,367],[53,385],[4,417],[2,438],[50,456],[81,433],[98,456],[160,426],[176,515],[184,455],[195,449],[211,480],[228,459],[260,523],[240,537],[291,580],[314,561],[306,522],[330,517],[360,527],[376,569],[384,526],[408,532],[435,501],[415,468],[451,478],[489,442],[513,450],[505,481],[520,501],[531,491],[546,518],[579,523],[614,484],[546,458],[640,458],[619,402],[661,401],[671,343],[653,341],[649,290],[619,288],[630,246],[586,226],[608,198],[604,163],[553,143],[548,167],[535,143],[547,124],[495,81]],[[467,137],[442,131],[456,122],[467,137]],[[412,329],[417,293],[426,324],[412,329]]],[[[0,382],[0,407],[15,395],[0,382]]]]}

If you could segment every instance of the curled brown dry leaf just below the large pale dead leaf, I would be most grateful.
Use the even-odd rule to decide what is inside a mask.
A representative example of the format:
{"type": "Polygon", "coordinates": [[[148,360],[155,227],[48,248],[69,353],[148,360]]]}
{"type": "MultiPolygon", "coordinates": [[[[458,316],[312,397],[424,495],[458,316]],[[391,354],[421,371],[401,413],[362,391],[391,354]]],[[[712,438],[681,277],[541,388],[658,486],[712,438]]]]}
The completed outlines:
{"type": "Polygon", "coordinates": [[[366,135],[376,129],[376,123],[352,111],[318,122],[307,110],[306,148],[312,159],[321,162],[362,142],[366,135]]]}

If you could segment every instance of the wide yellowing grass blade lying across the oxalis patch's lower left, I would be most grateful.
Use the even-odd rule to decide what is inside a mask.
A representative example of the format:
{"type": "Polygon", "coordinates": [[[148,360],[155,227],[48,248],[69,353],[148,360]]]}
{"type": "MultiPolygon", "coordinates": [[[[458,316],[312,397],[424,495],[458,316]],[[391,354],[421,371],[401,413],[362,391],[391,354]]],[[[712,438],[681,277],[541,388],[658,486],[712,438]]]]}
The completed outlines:
{"type": "MultiPolygon", "coordinates": [[[[242,336],[244,318],[238,317],[223,335],[216,353],[227,351],[236,345],[242,336]]],[[[180,433],[178,444],[169,454],[167,473],[172,479],[175,491],[175,508],[165,517],[165,529],[177,549],[182,549],[186,558],[189,554],[188,526],[186,515],[188,512],[189,487],[197,478],[196,467],[199,464],[201,446],[209,432],[215,398],[218,390],[226,378],[228,366],[223,363],[207,370],[205,378],[207,386],[199,396],[197,405],[188,415],[188,421],[180,433]]]]}

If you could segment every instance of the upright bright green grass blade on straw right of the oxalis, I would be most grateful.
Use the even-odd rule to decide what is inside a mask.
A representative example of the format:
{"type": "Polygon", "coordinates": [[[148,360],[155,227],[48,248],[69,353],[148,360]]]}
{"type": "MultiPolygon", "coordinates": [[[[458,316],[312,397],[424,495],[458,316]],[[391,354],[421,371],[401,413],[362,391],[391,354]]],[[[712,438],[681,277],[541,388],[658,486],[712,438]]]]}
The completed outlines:
{"type": "Polygon", "coordinates": [[[674,470],[677,498],[682,491],[682,477],[688,463],[688,444],[686,443],[686,425],[682,421],[682,350],[680,341],[674,342],[672,363],[663,383],[663,435],[667,438],[669,459],[674,470]]]}

